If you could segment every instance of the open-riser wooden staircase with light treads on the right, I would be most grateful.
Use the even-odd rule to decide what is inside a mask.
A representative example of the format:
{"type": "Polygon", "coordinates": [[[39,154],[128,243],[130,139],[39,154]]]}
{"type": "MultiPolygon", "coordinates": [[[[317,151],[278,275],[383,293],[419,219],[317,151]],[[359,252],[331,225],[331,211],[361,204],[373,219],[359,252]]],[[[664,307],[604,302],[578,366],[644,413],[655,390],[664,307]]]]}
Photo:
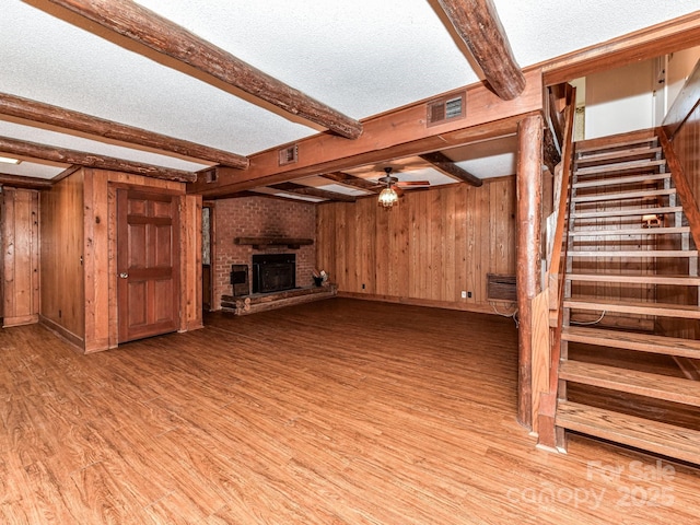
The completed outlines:
{"type": "Polygon", "coordinates": [[[575,431],[700,465],[688,372],[700,359],[698,250],[652,135],[574,152],[557,444],[575,431]],[[652,214],[660,224],[643,222],[652,214]]]}

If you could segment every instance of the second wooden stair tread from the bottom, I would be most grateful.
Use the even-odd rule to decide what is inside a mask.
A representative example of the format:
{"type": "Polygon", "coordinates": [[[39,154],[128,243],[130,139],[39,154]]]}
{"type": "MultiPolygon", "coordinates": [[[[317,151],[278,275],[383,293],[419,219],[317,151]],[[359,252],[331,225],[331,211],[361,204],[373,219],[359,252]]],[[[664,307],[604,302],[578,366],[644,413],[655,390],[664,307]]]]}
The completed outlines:
{"type": "Polygon", "coordinates": [[[684,405],[700,406],[700,382],[583,361],[564,361],[559,378],[684,405]]]}

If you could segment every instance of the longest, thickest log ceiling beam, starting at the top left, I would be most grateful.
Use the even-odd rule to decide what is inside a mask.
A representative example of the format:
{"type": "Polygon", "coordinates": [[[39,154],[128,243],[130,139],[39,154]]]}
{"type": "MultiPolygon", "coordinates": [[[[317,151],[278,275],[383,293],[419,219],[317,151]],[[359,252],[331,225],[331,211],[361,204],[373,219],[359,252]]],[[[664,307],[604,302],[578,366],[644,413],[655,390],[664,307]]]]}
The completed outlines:
{"type": "Polygon", "coordinates": [[[229,51],[128,0],[48,0],[138,42],[158,52],[219,79],[292,115],[316,122],[348,139],[362,125],[340,112],[240,60],[229,51]]]}

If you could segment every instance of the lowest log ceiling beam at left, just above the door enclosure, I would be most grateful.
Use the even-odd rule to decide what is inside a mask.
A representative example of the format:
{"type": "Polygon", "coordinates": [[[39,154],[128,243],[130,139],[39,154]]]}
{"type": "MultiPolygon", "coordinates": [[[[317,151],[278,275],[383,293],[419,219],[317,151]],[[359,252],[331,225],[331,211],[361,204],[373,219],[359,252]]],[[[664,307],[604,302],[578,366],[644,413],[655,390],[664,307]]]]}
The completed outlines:
{"type": "Polygon", "coordinates": [[[25,142],[8,137],[0,137],[0,151],[10,153],[11,155],[20,155],[28,159],[40,159],[61,164],[77,164],[85,167],[133,173],[136,175],[161,178],[164,180],[176,180],[179,183],[192,183],[197,180],[197,175],[191,172],[153,166],[151,164],[139,162],[130,162],[122,159],[86,153],[84,151],[37,144],[35,142],[25,142]]]}

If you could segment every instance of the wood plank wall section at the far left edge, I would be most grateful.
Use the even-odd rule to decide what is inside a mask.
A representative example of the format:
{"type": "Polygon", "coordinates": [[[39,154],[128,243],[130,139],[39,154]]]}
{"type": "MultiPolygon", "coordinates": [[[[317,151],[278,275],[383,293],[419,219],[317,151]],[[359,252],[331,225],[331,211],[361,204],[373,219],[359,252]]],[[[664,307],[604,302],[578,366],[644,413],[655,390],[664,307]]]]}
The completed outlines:
{"type": "Polygon", "coordinates": [[[2,326],[36,323],[39,313],[39,199],[30,189],[2,195],[2,326]]]}

